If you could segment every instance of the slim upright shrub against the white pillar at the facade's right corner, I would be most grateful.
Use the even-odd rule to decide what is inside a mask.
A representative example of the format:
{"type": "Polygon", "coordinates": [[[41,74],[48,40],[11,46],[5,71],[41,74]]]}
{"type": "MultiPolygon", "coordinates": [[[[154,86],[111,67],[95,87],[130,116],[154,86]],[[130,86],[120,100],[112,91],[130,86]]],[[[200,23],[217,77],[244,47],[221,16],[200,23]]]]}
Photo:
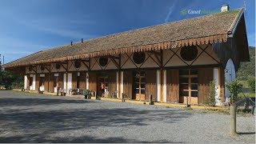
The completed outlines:
{"type": "Polygon", "coordinates": [[[209,83],[209,93],[208,93],[207,98],[206,98],[206,105],[215,106],[215,104],[216,104],[215,95],[216,95],[215,81],[211,81],[209,83]]]}

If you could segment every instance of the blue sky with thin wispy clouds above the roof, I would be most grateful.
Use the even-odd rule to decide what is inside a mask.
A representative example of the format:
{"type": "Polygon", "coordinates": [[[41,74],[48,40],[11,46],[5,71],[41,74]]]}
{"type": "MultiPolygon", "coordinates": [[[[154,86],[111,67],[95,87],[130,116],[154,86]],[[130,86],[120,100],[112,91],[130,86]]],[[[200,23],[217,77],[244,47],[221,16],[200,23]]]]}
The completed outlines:
{"type": "MultiPolygon", "coordinates": [[[[174,22],[202,14],[181,10],[230,10],[243,0],[0,0],[0,54],[5,63],[54,46],[174,22]]],[[[255,46],[255,1],[246,0],[246,30],[255,46]]]]}

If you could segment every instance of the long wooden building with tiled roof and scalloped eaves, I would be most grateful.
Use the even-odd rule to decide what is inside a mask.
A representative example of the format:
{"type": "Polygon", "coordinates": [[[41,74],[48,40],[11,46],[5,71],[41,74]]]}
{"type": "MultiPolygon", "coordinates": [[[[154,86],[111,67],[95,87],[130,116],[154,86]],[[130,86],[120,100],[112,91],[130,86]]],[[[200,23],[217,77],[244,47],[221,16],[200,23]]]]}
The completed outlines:
{"type": "Polygon", "coordinates": [[[250,61],[242,9],[130,30],[38,51],[3,67],[24,74],[24,89],[203,104],[214,81],[216,102],[229,97],[240,62],[250,61]]]}

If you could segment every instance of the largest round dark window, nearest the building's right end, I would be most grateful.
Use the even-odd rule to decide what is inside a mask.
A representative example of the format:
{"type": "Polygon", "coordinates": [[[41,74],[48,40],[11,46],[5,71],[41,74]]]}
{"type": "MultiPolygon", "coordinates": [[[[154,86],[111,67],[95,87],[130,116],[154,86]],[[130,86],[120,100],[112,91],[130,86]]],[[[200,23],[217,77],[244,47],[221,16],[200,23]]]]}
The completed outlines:
{"type": "Polygon", "coordinates": [[[192,61],[198,56],[198,48],[197,46],[184,46],[180,54],[185,61],[192,61]]]}

